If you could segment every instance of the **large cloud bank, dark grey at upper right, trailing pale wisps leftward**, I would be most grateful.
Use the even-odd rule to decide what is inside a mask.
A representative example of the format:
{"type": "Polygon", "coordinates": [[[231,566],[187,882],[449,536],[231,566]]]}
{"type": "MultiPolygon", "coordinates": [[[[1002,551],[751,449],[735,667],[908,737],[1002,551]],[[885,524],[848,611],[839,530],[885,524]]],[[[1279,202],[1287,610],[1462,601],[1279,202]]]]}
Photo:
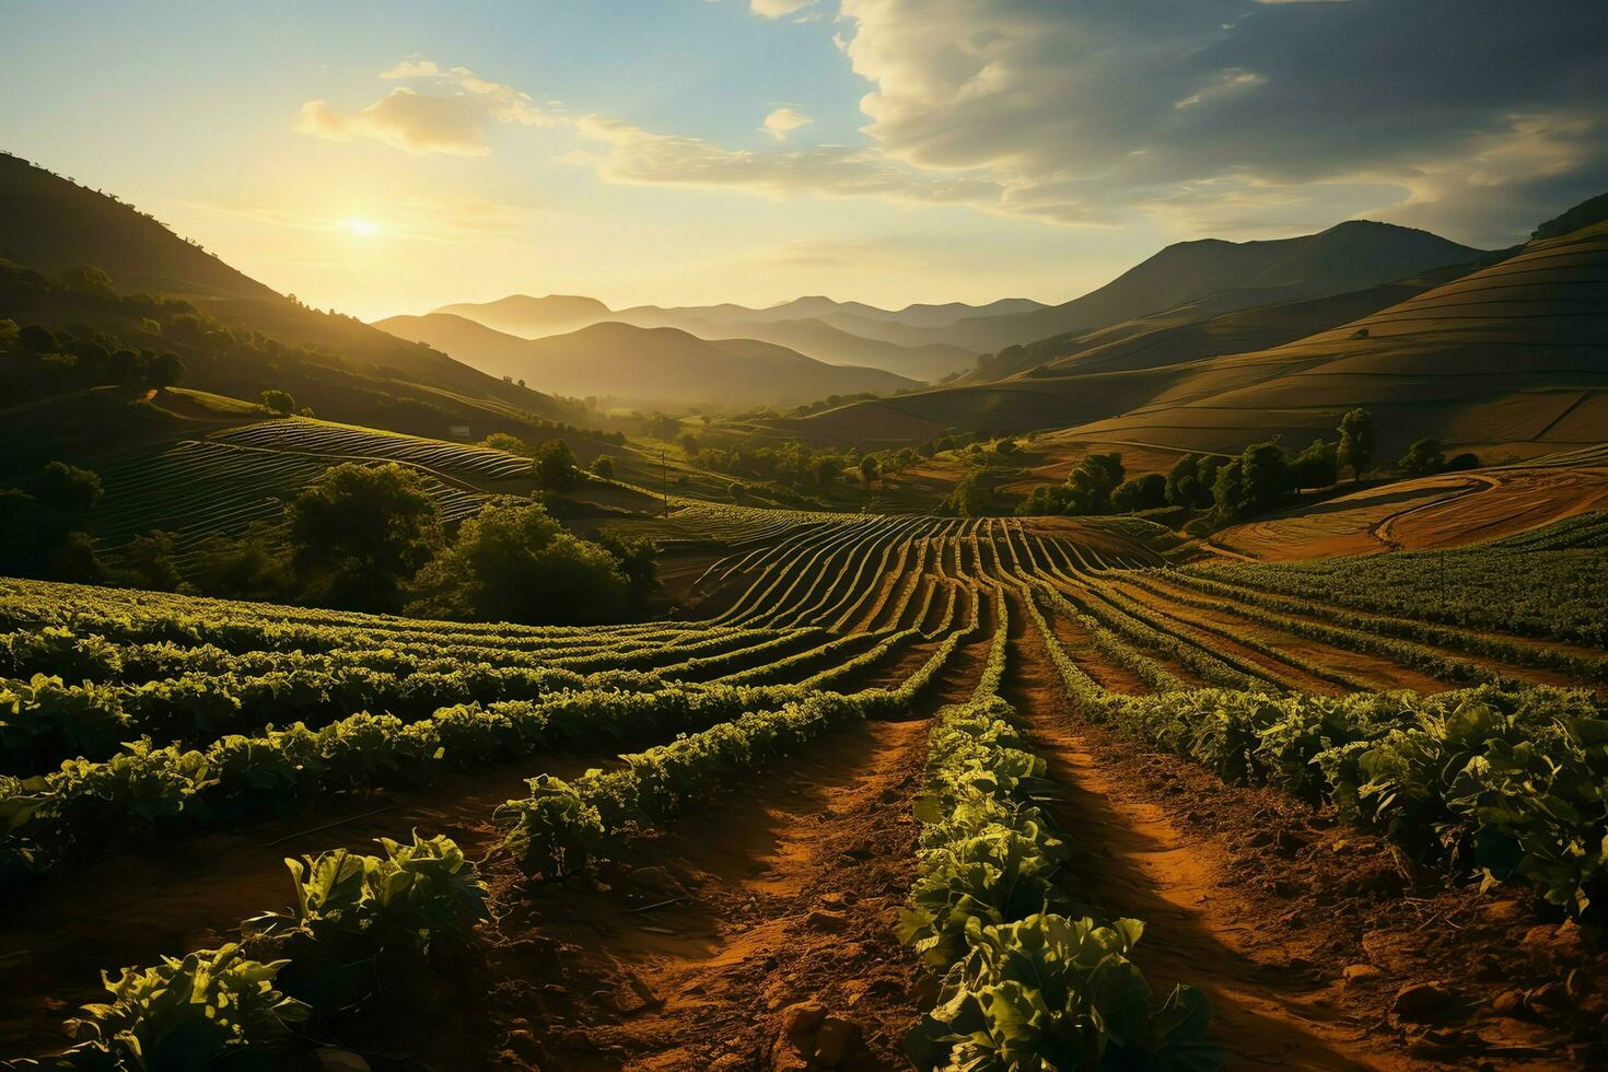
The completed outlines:
{"type": "Polygon", "coordinates": [[[812,122],[794,108],[761,148],[571,119],[421,56],[383,76],[408,85],[352,114],[309,101],[297,129],[478,156],[494,124],[566,124],[601,146],[566,159],[608,182],[1180,233],[1373,214],[1497,244],[1608,188],[1602,0],[841,0],[836,42],[868,87],[862,145],[780,145],[812,122]]]}

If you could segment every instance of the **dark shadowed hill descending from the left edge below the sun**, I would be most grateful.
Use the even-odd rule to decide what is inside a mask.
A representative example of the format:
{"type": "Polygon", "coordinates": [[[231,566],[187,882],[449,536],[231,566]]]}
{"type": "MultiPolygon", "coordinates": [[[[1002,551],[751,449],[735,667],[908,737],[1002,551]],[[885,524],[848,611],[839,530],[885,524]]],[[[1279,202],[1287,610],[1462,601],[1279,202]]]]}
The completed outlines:
{"type": "Polygon", "coordinates": [[[185,304],[156,320],[198,312],[185,333],[116,297],[51,289],[14,272],[0,317],[19,325],[85,325],[130,346],[175,350],[187,383],[256,399],[291,391],[338,419],[442,436],[452,424],[505,428],[531,415],[574,419],[577,408],[505,384],[444,354],[412,346],[338,313],[309,309],[236,272],[114,196],[0,154],[0,260],[47,278],[80,265],[105,270],[119,294],[185,304]],[[222,334],[220,334],[222,333],[222,334]]]}

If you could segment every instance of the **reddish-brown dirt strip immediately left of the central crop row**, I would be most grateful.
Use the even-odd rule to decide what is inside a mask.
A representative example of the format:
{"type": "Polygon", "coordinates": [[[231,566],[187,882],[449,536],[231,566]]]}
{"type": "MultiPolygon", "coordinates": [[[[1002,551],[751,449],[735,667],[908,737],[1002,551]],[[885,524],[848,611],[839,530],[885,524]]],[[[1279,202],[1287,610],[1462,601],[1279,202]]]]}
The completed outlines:
{"type": "Polygon", "coordinates": [[[957,651],[917,717],[835,733],[728,805],[646,836],[592,895],[500,874],[494,1016],[526,1024],[505,1032],[502,1061],[802,1069],[785,1027],[814,1001],[831,1019],[801,1035],[806,1049],[841,1035],[841,1067],[904,1067],[921,1003],[894,924],[915,869],[926,717],[970,694],[986,656],[987,638],[957,651]],[[563,987],[531,993],[523,980],[555,963],[563,987]]]}

